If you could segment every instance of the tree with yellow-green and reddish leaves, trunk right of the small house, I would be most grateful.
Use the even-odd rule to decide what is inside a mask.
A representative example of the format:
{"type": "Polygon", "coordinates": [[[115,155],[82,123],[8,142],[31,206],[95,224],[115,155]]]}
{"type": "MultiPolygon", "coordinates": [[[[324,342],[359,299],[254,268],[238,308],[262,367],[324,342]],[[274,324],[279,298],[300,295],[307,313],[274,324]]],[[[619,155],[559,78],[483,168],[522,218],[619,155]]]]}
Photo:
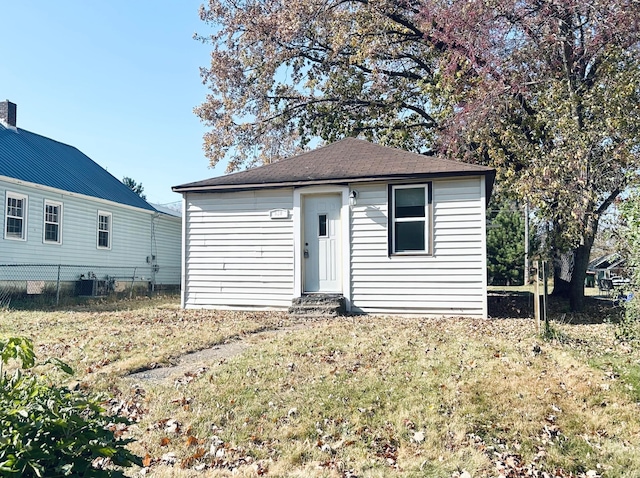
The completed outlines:
{"type": "Polygon", "coordinates": [[[580,310],[600,218],[638,180],[640,4],[429,3],[455,72],[440,148],[495,165],[537,209],[555,291],[580,310]]]}

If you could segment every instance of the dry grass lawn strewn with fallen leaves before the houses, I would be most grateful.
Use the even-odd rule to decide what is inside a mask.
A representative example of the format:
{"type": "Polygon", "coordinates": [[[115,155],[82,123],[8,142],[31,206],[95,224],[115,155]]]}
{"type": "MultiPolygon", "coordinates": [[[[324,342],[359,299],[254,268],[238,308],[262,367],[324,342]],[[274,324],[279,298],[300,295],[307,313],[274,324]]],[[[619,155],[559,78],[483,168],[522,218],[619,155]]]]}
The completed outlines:
{"type": "Polygon", "coordinates": [[[640,350],[593,320],[608,312],[555,305],[552,340],[530,319],[391,317],[256,340],[295,324],[157,299],[4,311],[0,336],[31,337],[137,419],[149,466],[131,476],[637,477],[640,350]],[[178,380],[127,377],[242,337],[242,353],[178,380]]]}

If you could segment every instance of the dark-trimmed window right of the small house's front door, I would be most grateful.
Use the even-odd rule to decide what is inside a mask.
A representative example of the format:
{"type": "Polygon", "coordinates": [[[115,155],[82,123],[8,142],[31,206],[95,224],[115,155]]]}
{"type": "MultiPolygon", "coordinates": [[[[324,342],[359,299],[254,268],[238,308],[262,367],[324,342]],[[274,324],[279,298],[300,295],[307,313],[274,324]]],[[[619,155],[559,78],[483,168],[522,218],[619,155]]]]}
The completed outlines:
{"type": "Polygon", "coordinates": [[[392,186],[390,195],[390,252],[429,254],[431,184],[392,186]]]}

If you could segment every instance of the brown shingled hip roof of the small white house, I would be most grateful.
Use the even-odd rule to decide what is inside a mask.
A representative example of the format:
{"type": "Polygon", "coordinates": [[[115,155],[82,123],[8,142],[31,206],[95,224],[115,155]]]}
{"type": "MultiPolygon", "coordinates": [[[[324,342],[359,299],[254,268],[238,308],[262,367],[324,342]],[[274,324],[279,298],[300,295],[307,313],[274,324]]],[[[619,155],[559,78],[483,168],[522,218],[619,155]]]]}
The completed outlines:
{"type": "Polygon", "coordinates": [[[478,175],[487,177],[487,190],[490,192],[495,177],[495,170],[492,168],[346,138],[273,164],[182,184],[172,189],[175,192],[223,192],[387,179],[478,175]]]}

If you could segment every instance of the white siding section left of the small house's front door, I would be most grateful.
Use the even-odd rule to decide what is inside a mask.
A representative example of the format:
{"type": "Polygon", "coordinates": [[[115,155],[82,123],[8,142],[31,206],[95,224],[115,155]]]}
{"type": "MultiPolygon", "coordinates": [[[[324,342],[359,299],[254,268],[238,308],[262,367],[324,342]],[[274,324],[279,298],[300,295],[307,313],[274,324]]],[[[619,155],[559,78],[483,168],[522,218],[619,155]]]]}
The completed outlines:
{"type": "Polygon", "coordinates": [[[186,195],[184,305],[287,308],[293,297],[293,191],[186,195]]]}

